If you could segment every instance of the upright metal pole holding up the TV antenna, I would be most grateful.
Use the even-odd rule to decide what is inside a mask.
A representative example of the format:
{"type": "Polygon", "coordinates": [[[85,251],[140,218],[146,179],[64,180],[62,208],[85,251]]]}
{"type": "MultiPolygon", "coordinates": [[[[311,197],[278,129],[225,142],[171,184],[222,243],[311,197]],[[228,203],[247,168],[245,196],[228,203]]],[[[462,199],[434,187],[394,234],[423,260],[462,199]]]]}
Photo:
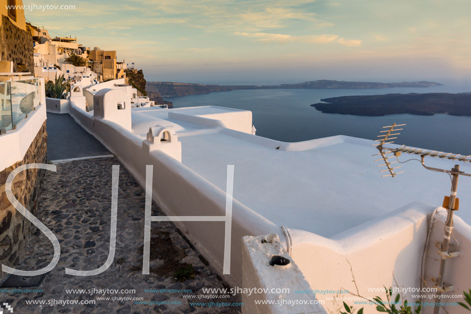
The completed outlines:
{"type": "MultiPolygon", "coordinates": [[[[455,164],[455,168],[451,169],[451,175],[453,179],[451,180],[451,192],[450,192],[450,200],[448,203],[448,215],[445,221],[445,236],[443,239],[443,245],[441,251],[443,253],[448,253],[449,244],[450,244],[450,237],[451,232],[453,232],[453,214],[455,211],[455,200],[456,200],[456,192],[458,188],[458,177],[460,175],[460,166],[455,164]]],[[[445,273],[445,266],[446,260],[448,257],[446,255],[441,255],[442,259],[440,260],[440,272],[437,277],[436,287],[439,290],[439,298],[435,299],[436,304],[440,302],[440,295],[445,292],[445,287],[443,286],[443,275],[445,273]]],[[[440,306],[434,305],[434,314],[439,314],[440,306]]]]}

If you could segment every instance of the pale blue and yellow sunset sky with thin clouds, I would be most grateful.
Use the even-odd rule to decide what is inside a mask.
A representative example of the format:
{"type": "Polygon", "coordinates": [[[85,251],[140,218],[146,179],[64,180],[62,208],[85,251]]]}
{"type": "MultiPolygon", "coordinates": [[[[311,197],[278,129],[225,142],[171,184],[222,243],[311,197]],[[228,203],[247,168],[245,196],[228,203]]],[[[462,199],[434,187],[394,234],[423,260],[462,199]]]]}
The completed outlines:
{"type": "Polygon", "coordinates": [[[147,81],[471,81],[469,0],[24,0],[51,36],[117,50],[147,81]],[[33,7],[33,6],[36,7],[33,7]],[[71,5],[74,9],[46,9],[71,5]]]}

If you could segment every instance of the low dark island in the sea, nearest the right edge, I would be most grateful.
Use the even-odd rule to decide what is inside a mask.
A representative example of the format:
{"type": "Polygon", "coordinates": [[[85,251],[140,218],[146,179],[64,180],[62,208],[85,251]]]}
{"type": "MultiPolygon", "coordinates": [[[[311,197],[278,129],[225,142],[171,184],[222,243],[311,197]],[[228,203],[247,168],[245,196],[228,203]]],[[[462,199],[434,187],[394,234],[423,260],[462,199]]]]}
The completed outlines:
{"type": "Polygon", "coordinates": [[[311,106],[327,114],[374,117],[397,114],[471,116],[471,93],[343,96],[325,98],[321,101],[323,103],[311,106]]]}

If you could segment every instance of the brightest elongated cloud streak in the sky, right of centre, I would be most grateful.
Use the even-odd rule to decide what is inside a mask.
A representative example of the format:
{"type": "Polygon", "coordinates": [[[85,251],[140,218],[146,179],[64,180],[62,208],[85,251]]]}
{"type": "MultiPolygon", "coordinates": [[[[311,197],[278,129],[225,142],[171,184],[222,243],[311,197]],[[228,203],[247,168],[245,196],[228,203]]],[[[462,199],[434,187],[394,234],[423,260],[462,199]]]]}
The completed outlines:
{"type": "Polygon", "coordinates": [[[346,40],[343,37],[333,34],[322,34],[322,35],[302,35],[293,36],[287,34],[273,34],[273,33],[262,33],[262,32],[235,32],[236,35],[255,38],[261,42],[281,42],[281,43],[316,43],[316,44],[328,44],[338,43],[345,46],[361,46],[361,40],[346,40]]]}

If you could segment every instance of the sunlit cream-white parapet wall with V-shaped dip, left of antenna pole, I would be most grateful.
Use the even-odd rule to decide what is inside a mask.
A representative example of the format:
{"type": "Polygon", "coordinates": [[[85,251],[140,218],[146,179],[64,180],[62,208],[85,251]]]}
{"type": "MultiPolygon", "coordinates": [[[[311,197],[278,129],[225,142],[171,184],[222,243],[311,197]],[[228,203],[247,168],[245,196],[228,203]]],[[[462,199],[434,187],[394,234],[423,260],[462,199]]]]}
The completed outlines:
{"type": "MultiPolygon", "coordinates": [[[[313,290],[345,289],[363,297],[380,295],[384,300],[385,293],[369,292],[368,288],[389,288],[395,286],[395,281],[399,286],[420,287],[427,215],[434,209],[431,205],[412,203],[330,239],[292,230],[292,257],[313,290]]],[[[416,301],[411,300],[411,294],[405,293],[406,299],[416,301]]],[[[326,298],[334,296],[318,295],[318,299],[326,300],[325,307],[332,309],[333,302],[326,298]]],[[[365,312],[376,310],[365,305],[365,312]]]]}

